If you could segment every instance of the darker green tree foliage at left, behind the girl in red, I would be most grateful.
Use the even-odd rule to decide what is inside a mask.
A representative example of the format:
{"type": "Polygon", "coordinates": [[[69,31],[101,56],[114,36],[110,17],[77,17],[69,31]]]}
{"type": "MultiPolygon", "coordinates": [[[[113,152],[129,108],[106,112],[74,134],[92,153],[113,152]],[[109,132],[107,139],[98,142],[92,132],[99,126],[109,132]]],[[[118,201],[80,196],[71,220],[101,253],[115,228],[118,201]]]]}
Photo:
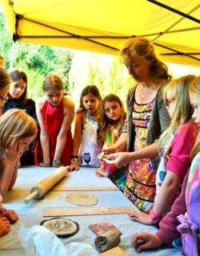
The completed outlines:
{"type": "MultiPolygon", "coordinates": [[[[0,30],[0,54],[6,60],[6,70],[9,70],[12,38],[1,12],[0,30]]],[[[37,99],[42,97],[42,82],[47,74],[58,74],[65,84],[65,89],[68,90],[72,57],[72,51],[68,49],[15,42],[13,67],[26,72],[29,97],[37,99]]]]}

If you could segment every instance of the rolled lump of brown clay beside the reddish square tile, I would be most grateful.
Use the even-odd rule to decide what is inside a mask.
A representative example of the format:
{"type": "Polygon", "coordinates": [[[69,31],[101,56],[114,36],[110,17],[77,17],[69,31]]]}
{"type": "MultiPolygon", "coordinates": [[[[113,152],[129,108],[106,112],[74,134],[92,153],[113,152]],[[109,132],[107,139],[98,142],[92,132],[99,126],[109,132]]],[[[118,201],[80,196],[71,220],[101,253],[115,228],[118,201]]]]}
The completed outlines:
{"type": "Polygon", "coordinates": [[[110,250],[115,246],[118,246],[121,238],[118,232],[115,231],[107,231],[102,234],[98,238],[95,238],[94,245],[98,248],[100,253],[103,253],[106,250],[110,250]]]}

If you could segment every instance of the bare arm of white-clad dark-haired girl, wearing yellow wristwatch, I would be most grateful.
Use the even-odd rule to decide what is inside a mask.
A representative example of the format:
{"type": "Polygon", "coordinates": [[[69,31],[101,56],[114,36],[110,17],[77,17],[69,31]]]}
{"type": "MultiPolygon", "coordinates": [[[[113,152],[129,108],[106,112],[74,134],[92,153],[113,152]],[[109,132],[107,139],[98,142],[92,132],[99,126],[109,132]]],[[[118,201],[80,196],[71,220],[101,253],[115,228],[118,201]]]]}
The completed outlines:
{"type": "MultiPolygon", "coordinates": [[[[72,155],[78,157],[79,146],[82,142],[82,126],[83,120],[86,118],[86,111],[76,113],[75,118],[75,129],[74,129],[74,140],[73,140],[73,151],[72,155]]],[[[78,160],[78,159],[77,159],[78,160]]],[[[72,163],[70,170],[79,170],[78,163],[72,163]]]]}

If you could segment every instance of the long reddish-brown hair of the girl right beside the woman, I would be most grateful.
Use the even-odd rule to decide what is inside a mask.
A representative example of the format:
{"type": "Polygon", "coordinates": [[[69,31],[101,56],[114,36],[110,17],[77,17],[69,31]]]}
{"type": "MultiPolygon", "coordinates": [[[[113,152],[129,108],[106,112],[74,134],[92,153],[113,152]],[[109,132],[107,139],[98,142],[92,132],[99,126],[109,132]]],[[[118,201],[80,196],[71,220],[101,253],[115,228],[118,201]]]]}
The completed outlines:
{"type": "Polygon", "coordinates": [[[109,124],[115,126],[116,130],[118,130],[118,135],[122,132],[122,126],[125,122],[126,118],[126,111],[124,109],[123,103],[120,98],[118,98],[115,94],[109,94],[105,98],[102,99],[101,105],[100,105],[100,111],[99,111],[99,118],[98,118],[98,129],[97,129],[97,143],[99,146],[103,146],[103,139],[104,134],[106,132],[107,126],[109,124]],[[119,106],[121,107],[122,116],[118,119],[118,121],[113,122],[108,118],[104,112],[104,106],[106,102],[118,102],[119,106]]]}

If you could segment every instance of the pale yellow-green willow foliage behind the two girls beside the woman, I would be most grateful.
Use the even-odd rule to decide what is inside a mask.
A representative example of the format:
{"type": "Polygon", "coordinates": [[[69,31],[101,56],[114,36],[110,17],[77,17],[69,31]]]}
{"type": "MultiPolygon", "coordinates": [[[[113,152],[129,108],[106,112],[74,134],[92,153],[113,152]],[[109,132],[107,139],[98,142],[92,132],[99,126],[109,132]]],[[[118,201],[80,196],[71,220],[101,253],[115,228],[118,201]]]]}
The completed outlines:
{"type": "Polygon", "coordinates": [[[98,86],[102,98],[107,94],[117,94],[126,106],[126,96],[134,81],[128,78],[127,70],[118,56],[79,50],[74,50],[73,53],[69,94],[76,108],[82,89],[92,84],[98,86]]]}

